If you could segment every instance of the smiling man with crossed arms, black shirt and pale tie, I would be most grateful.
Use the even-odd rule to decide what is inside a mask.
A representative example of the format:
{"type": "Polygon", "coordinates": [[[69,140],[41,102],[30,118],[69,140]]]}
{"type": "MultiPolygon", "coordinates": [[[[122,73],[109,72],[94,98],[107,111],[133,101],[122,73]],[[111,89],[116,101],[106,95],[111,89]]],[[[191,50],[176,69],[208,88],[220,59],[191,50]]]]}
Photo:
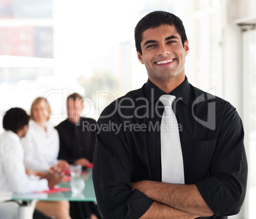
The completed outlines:
{"type": "Polygon", "coordinates": [[[148,81],[103,110],[93,180],[106,218],[227,218],[246,192],[243,125],[232,105],[185,76],[180,18],[154,11],[135,29],[148,81]],[[129,128],[127,128],[129,127],[129,128]]]}

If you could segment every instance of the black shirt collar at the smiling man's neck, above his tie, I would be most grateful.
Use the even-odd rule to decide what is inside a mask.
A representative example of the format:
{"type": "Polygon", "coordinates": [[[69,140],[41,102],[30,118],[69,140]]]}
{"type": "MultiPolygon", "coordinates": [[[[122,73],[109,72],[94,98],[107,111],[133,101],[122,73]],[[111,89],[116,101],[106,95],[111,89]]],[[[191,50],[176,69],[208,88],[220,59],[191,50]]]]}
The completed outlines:
{"type": "MultiPolygon", "coordinates": [[[[166,95],[164,91],[160,90],[155,84],[153,84],[150,79],[145,84],[145,97],[151,103],[159,100],[159,97],[162,95],[166,95]]],[[[185,103],[188,106],[190,99],[190,84],[188,83],[187,76],[183,83],[181,83],[177,88],[175,88],[169,95],[176,96],[176,100],[181,100],[181,102],[185,103]]]]}

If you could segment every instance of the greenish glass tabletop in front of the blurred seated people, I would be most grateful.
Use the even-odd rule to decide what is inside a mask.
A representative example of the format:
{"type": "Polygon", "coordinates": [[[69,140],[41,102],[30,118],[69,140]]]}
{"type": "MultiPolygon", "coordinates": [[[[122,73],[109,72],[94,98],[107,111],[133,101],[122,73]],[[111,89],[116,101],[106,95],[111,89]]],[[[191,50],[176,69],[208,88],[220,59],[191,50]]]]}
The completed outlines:
{"type": "MultiPolygon", "coordinates": [[[[94,193],[94,185],[92,183],[92,171],[89,170],[84,173],[82,179],[85,182],[85,189],[81,194],[74,194],[70,191],[65,192],[54,192],[50,194],[46,193],[29,193],[29,194],[16,194],[13,193],[11,199],[13,200],[23,200],[23,201],[32,201],[37,199],[39,201],[96,201],[94,193]]],[[[70,180],[68,182],[59,183],[58,187],[60,188],[69,188],[70,189],[70,180]]]]}

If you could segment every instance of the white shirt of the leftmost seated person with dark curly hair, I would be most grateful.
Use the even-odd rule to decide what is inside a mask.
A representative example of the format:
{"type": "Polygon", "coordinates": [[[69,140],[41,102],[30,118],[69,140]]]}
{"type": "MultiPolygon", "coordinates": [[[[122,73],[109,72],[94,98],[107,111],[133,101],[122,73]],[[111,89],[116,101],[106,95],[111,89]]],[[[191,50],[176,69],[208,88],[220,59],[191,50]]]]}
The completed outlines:
{"type": "Polygon", "coordinates": [[[25,173],[24,151],[20,138],[12,131],[0,136],[0,192],[20,194],[48,190],[48,181],[25,173]]]}

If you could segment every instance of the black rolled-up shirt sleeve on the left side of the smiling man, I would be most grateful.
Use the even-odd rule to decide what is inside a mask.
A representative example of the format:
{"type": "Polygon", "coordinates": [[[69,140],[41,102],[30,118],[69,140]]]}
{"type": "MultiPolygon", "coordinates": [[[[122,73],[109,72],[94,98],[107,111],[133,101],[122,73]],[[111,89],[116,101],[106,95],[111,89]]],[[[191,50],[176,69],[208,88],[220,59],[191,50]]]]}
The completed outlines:
{"type": "MultiPolygon", "coordinates": [[[[104,110],[102,116],[113,110],[104,110]]],[[[150,208],[152,199],[139,190],[131,190],[132,157],[118,116],[97,123],[94,168],[92,171],[97,204],[106,218],[139,218],[150,208]],[[115,131],[114,131],[115,130],[115,131]]]]}

